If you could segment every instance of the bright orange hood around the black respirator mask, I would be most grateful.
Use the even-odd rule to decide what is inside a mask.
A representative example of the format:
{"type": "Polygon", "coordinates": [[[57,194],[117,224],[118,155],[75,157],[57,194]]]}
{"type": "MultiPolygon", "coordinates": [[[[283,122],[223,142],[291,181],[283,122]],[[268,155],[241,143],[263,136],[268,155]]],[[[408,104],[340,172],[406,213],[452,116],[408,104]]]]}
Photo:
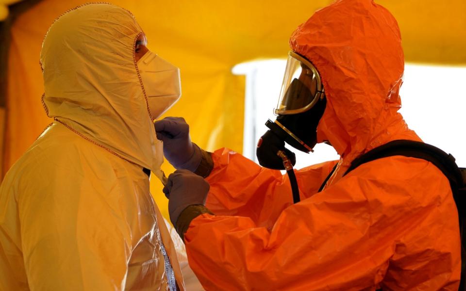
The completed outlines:
{"type": "Polygon", "coordinates": [[[330,141],[345,164],[407,129],[397,113],[401,37],[385,8],[373,0],[338,0],[301,24],[290,46],[321,75],[327,108],[317,140],[330,141]]]}

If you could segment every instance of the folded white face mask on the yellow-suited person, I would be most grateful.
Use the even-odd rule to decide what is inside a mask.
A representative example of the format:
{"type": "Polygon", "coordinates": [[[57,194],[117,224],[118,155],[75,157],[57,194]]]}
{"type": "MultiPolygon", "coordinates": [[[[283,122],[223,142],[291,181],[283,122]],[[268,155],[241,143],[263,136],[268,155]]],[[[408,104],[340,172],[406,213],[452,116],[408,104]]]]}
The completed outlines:
{"type": "Polygon", "coordinates": [[[181,97],[180,69],[148,51],[137,61],[150,115],[157,119],[181,97]]]}

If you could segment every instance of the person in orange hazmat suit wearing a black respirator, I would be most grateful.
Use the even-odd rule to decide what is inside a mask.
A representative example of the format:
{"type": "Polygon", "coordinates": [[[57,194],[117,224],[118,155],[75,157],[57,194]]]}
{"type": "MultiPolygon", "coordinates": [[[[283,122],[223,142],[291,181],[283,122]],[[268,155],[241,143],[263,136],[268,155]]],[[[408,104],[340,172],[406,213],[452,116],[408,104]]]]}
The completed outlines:
{"type": "MultiPolygon", "coordinates": [[[[443,173],[431,162],[392,156],[344,176],[370,149],[394,140],[420,141],[398,113],[404,59],[394,17],[371,0],[339,0],[301,24],[290,46],[287,73],[293,62],[310,64],[306,69],[315,67],[319,78],[312,80],[318,84],[321,78],[322,88],[311,94],[317,99],[301,106],[301,95],[292,100],[290,91],[282,94],[277,120],[321,106],[318,123],[301,118],[304,136],[294,135],[309,148],[316,135],[316,142],[330,143],[341,159],[296,171],[296,204],[286,176],[229,149],[197,155],[195,172],[205,180],[180,162],[182,170],[170,175],[164,192],[204,288],[457,290],[458,213],[443,173]]],[[[284,79],[283,88],[295,86],[284,79]]],[[[170,162],[176,153],[165,144],[183,124],[155,124],[170,162]]]]}

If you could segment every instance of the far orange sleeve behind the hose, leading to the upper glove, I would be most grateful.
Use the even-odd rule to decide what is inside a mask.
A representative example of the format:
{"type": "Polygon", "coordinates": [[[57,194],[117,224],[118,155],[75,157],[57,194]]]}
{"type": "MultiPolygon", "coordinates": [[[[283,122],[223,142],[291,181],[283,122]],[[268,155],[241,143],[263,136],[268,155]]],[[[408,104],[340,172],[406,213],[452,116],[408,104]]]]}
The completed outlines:
{"type": "MultiPolygon", "coordinates": [[[[290,180],[278,170],[263,168],[228,148],[212,153],[214,169],[206,207],[217,215],[238,215],[257,225],[271,227],[293,204],[290,180]]],[[[295,170],[301,200],[317,193],[336,161],[295,170]]]]}

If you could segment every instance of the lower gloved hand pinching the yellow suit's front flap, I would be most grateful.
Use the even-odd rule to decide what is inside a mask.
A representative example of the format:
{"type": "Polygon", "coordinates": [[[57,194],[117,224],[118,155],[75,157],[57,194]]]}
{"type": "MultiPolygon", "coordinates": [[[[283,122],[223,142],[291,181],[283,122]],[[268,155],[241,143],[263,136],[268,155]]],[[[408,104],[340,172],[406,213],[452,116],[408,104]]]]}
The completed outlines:
{"type": "Polygon", "coordinates": [[[210,185],[204,178],[188,170],[177,170],[168,176],[163,189],[168,198],[168,213],[176,226],[180,213],[190,205],[204,205],[210,185]]]}

